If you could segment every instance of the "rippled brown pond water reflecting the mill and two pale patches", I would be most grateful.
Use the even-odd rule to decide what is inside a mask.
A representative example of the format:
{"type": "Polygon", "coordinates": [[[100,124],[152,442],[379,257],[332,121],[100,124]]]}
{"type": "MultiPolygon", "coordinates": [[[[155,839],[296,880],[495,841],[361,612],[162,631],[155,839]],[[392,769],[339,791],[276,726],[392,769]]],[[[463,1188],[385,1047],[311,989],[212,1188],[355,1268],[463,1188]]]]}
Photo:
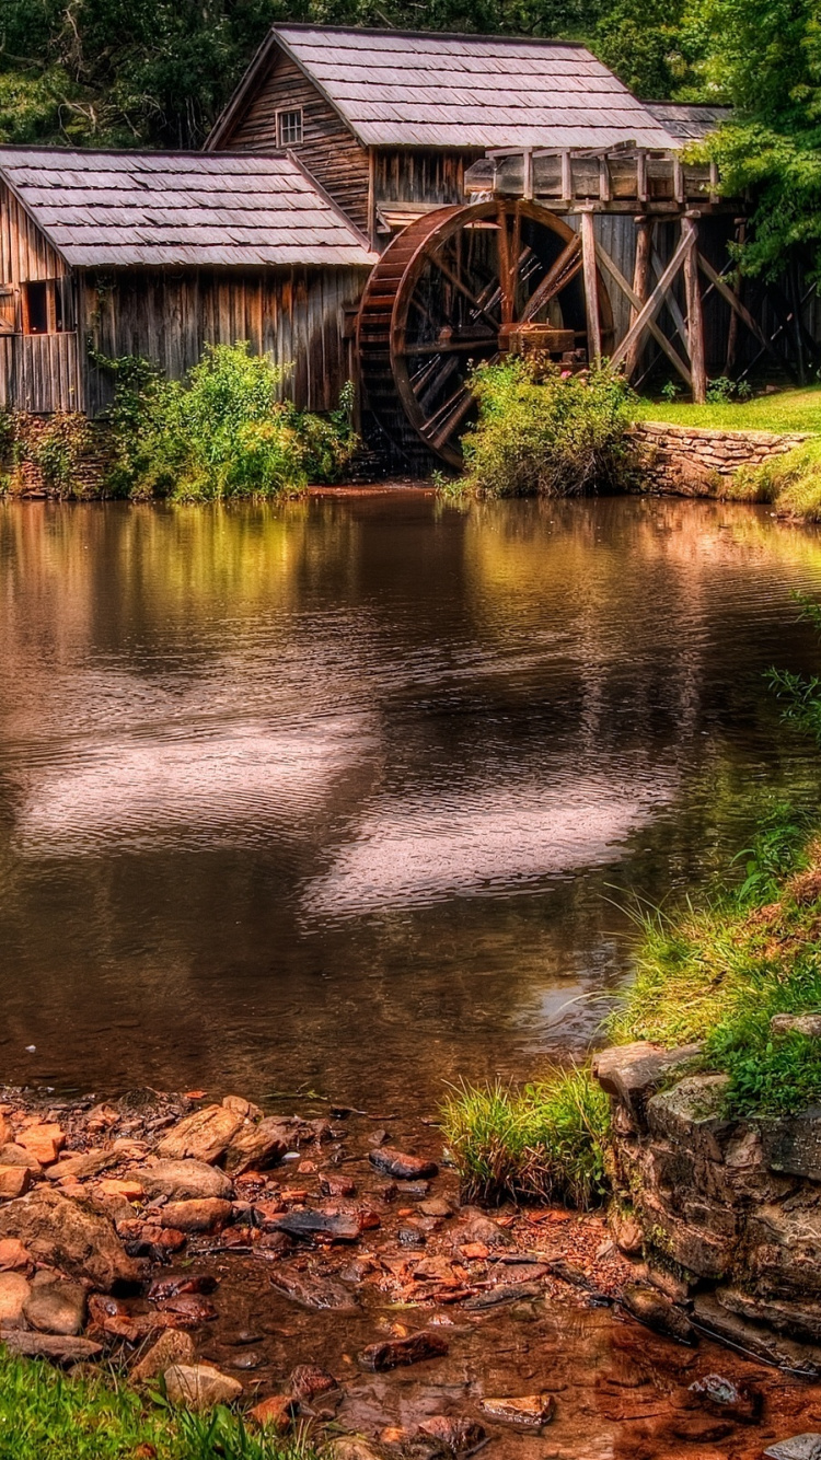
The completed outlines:
{"type": "Polygon", "coordinates": [[[630,895],[817,802],[796,587],[719,504],[0,507],[3,1075],[409,1110],[584,1047],[630,895]]]}

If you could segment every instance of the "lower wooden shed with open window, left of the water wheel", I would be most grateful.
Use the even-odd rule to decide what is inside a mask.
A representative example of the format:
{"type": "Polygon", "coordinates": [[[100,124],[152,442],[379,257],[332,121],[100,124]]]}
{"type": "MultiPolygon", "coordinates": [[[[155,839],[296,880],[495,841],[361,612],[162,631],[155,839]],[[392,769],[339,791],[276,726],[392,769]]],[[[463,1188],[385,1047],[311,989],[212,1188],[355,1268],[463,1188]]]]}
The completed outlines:
{"type": "Polygon", "coordinates": [[[0,147],[0,406],[96,415],[111,377],[89,346],[178,378],[248,340],[329,409],[374,261],[288,155],[0,147]]]}

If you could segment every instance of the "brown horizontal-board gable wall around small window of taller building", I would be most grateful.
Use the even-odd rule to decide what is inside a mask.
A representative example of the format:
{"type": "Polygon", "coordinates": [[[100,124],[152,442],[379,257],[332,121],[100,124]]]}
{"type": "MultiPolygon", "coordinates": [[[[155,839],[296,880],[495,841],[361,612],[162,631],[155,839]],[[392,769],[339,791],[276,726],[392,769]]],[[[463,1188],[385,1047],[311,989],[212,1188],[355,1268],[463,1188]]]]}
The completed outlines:
{"type": "Polygon", "coordinates": [[[367,231],[370,161],[354,133],[313,82],[289,57],[278,54],[247,111],[221,140],[219,150],[270,152],[278,146],[276,112],[302,108],[302,142],[288,150],[298,156],[326,193],[367,231]]]}

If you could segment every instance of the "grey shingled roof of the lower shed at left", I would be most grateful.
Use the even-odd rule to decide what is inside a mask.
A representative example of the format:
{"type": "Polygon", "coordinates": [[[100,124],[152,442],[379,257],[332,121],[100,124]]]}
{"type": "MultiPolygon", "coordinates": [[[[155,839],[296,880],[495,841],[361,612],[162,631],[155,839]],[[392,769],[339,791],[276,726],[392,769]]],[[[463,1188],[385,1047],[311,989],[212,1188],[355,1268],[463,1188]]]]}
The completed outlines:
{"type": "Polygon", "coordinates": [[[375,261],[288,155],[0,147],[0,178],[69,264],[375,261]]]}

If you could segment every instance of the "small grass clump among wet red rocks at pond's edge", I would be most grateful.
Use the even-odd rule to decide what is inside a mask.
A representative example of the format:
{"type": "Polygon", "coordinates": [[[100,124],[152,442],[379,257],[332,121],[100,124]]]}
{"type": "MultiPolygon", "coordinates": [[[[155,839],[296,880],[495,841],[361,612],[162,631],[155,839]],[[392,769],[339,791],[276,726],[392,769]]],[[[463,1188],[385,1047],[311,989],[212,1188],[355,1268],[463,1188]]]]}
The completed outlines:
{"type": "Polygon", "coordinates": [[[463,1085],[441,1124],[466,1200],[557,1197],[586,1207],[608,1190],[609,1101],[586,1069],[519,1091],[463,1085]]]}

